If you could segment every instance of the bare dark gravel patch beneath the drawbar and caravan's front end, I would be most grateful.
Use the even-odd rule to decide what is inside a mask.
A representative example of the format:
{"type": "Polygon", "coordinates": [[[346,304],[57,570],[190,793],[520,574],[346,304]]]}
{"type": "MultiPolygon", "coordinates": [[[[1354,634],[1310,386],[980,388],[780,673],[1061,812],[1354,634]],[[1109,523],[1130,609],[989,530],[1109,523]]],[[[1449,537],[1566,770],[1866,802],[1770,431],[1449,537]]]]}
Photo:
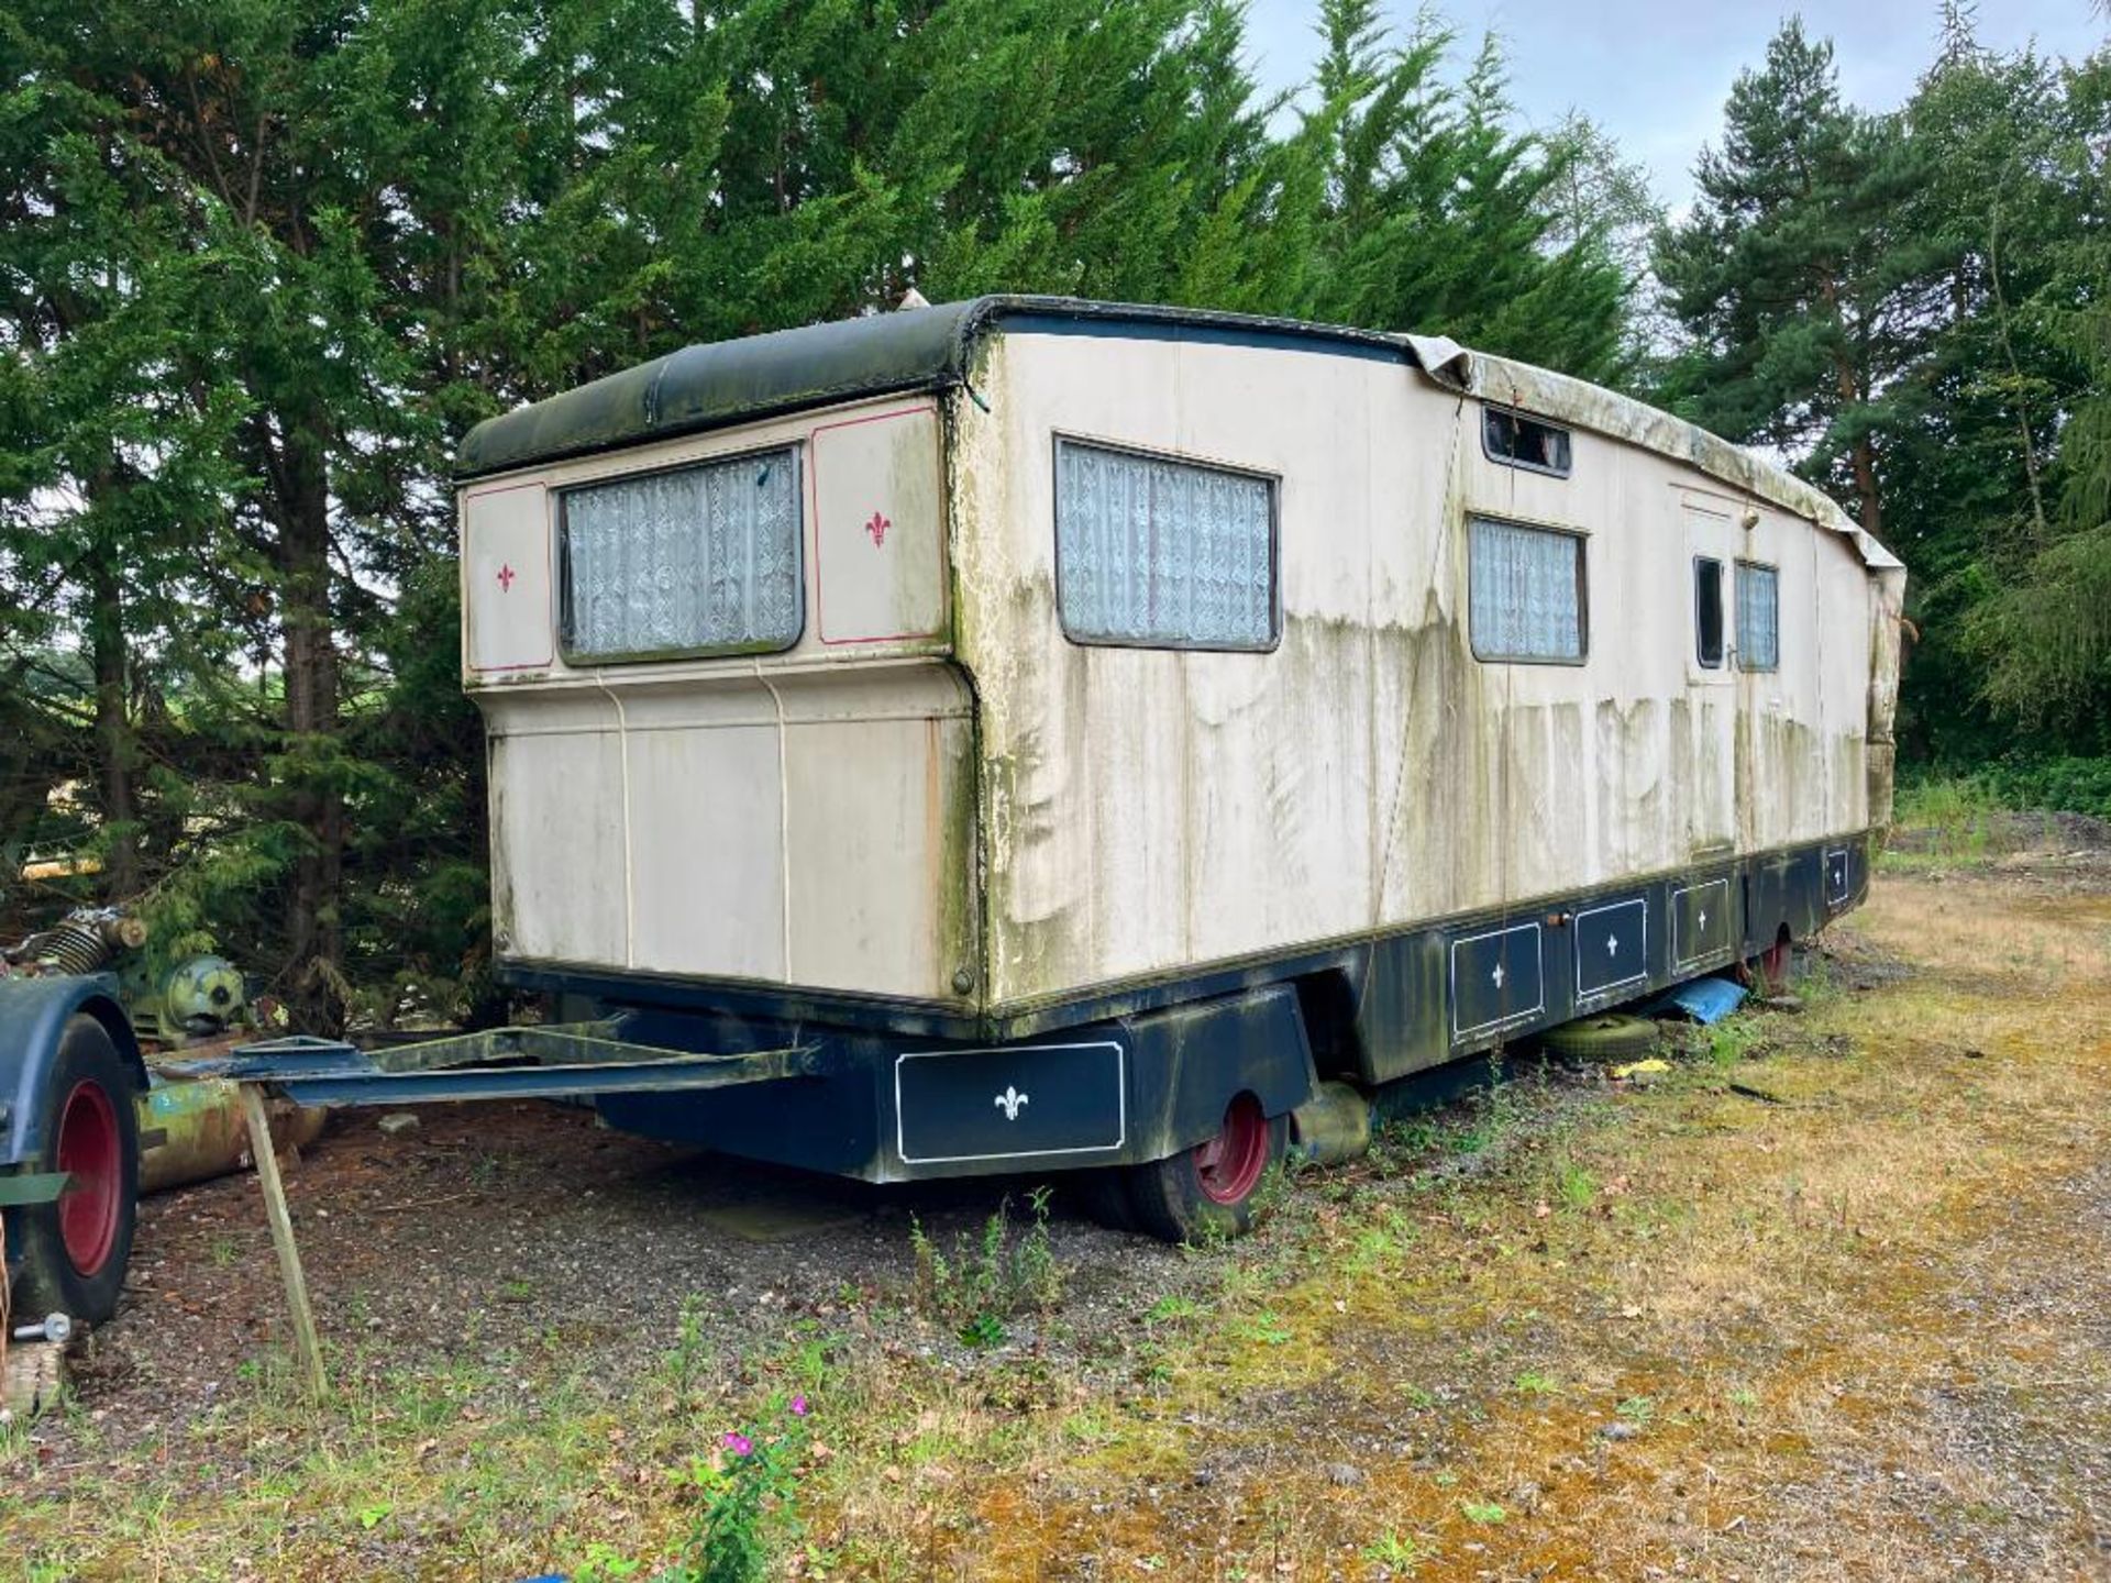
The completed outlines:
{"type": "MultiPolygon", "coordinates": [[[[395,1368],[483,1357],[562,1332],[623,1378],[665,1355],[684,1309],[720,1357],[781,1344],[800,1317],[899,1328],[910,1226],[973,1239],[1030,1184],[870,1186],[669,1148],[540,1102],[429,1106],[395,1136],[353,1110],[287,1167],[325,1344],[395,1368]]],[[[1058,1351],[1134,1330],[1197,1279],[1172,1247],[1110,1233],[1058,1201],[1051,1252],[1074,1271],[1058,1351]]],[[[1013,1347],[1037,1344],[1032,1323],[1013,1347]]],[[[927,1328],[914,1344],[946,1347],[927,1328]]],[[[289,1336],[279,1264],[249,1176],[148,1199],[125,1304],[80,1359],[106,1435],[150,1442],[192,1420],[260,1349],[289,1336]]],[[[53,1429],[63,1458],[63,1429],[53,1429]]]]}

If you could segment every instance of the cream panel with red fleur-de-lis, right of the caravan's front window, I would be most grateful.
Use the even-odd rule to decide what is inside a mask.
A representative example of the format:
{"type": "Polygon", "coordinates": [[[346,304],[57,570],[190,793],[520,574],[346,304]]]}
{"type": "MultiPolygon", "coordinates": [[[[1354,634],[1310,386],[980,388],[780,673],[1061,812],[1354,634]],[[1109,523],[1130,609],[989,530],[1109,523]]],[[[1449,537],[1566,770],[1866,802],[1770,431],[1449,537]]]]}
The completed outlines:
{"type": "Polygon", "coordinates": [[[931,637],[946,625],[937,412],[817,424],[815,606],[823,644],[931,637]]]}

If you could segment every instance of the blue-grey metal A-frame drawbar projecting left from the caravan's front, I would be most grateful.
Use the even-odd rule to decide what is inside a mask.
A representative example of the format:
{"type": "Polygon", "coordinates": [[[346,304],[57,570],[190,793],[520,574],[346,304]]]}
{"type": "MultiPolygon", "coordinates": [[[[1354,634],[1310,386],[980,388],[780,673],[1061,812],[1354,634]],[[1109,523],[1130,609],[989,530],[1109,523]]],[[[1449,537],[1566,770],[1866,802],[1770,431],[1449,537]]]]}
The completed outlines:
{"type": "Polygon", "coordinates": [[[384,1051],[298,1034],[196,1062],[169,1062],[163,1070],[255,1083],[293,1104],[325,1106],[688,1093],[823,1074],[819,1045],[699,1055],[627,1041],[623,1028],[623,1017],[492,1028],[384,1051]]]}

